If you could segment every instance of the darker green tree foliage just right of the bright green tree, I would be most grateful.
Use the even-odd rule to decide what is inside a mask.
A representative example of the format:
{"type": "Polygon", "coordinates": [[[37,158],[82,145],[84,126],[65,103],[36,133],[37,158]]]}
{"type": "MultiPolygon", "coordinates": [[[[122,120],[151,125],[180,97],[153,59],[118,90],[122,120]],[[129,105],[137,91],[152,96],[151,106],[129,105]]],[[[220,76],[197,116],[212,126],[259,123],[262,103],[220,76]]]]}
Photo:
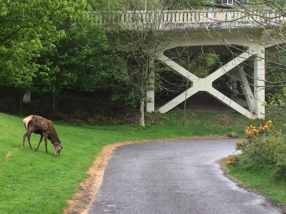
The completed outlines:
{"type": "Polygon", "coordinates": [[[94,17],[82,12],[57,27],[65,31],[66,37],[41,54],[38,63],[46,65],[49,71],[35,80],[37,90],[53,96],[70,88],[96,90],[98,84],[111,77],[108,66],[104,66],[107,41],[101,26],[94,17]]]}

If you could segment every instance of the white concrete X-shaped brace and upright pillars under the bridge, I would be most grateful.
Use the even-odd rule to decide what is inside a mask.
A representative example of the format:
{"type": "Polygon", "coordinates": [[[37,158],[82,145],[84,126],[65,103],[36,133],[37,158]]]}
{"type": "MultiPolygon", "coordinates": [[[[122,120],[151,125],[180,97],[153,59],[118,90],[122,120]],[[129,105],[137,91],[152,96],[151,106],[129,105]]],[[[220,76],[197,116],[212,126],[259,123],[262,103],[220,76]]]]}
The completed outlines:
{"type": "MultiPolygon", "coordinates": [[[[238,113],[243,114],[247,118],[264,118],[265,107],[262,105],[265,100],[265,63],[264,54],[265,47],[253,46],[248,51],[242,51],[243,48],[227,50],[224,46],[189,46],[192,53],[215,53],[219,55],[227,55],[229,53],[229,62],[221,66],[215,72],[209,74],[204,78],[198,78],[170,58],[168,54],[162,53],[157,56],[156,60],[160,61],[166,67],[170,68],[173,72],[183,76],[185,79],[191,82],[191,87],[182,92],[174,99],[170,100],[160,108],[156,109],[157,112],[166,113],[178,104],[182,103],[185,98],[189,98],[198,91],[205,91],[221,103],[225,104],[229,108],[235,110],[238,113]],[[236,52],[236,53],[235,53],[236,52]],[[254,56],[254,77],[253,83],[249,83],[245,72],[242,70],[242,65],[245,60],[254,56]],[[249,110],[238,104],[235,99],[231,99],[218,90],[216,90],[212,83],[223,75],[229,75],[229,86],[236,91],[237,81],[240,81],[241,86],[244,88],[245,99],[249,110]],[[254,91],[251,90],[251,85],[254,86],[254,91]]],[[[168,51],[167,51],[168,52],[168,51]]],[[[153,112],[154,109],[154,91],[147,92],[147,98],[149,101],[146,106],[147,112],[153,112]]]]}

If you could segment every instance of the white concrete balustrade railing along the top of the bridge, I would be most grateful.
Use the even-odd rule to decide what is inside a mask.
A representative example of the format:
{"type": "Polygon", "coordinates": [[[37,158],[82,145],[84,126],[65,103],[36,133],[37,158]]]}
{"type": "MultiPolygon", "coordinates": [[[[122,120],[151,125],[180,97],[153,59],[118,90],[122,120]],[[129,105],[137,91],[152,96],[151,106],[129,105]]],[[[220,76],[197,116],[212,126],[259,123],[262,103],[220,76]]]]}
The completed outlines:
{"type": "MultiPolygon", "coordinates": [[[[266,10],[265,10],[266,11],[266,10]]],[[[243,10],[172,10],[172,11],[119,11],[108,15],[96,14],[103,24],[127,24],[138,23],[200,23],[200,22],[231,22],[231,21],[251,21],[261,23],[271,21],[281,23],[286,21],[286,15],[275,11],[246,11],[243,10]],[[265,19],[266,18],[266,19],[265,19]]],[[[285,11],[286,12],[286,11],[285,11]]]]}

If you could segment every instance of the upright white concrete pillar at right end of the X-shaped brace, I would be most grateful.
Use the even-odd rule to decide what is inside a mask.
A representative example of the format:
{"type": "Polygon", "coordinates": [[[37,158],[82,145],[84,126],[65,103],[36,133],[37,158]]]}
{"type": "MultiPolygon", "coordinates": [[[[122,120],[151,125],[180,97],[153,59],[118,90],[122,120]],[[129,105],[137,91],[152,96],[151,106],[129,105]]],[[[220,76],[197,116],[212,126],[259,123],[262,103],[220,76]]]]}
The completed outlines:
{"type": "Polygon", "coordinates": [[[258,118],[265,117],[265,49],[263,46],[257,47],[257,54],[254,59],[254,108],[258,118]]]}

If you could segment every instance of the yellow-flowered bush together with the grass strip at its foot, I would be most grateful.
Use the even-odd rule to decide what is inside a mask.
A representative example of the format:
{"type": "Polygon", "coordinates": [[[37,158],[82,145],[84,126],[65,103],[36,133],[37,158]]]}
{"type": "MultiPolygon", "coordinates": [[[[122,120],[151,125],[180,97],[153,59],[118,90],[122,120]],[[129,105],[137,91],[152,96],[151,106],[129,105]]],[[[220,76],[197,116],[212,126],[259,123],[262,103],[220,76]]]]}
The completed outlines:
{"type": "MultiPolygon", "coordinates": [[[[273,112],[271,112],[273,116],[273,112]]],[[[229,175],[243,185],[272,197],[281,205],[286,204],[286,136],[274,123],[264,121],[259,126],[247,126],[245,140],[235,143],[238,156],[230,156],[224,163],[229,175]],[[273,125],[274,124],[274,125],[273,125]]]]}

